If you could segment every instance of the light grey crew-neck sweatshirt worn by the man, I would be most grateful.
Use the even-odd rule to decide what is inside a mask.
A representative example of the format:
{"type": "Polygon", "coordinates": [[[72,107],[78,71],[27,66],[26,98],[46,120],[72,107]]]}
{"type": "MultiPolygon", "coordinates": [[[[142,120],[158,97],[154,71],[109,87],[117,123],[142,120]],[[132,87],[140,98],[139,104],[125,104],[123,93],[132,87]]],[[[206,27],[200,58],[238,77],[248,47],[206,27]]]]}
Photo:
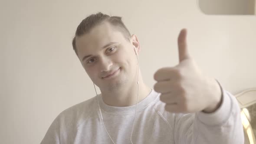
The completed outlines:
{"type": "MultiPolygon", "coordinates": [[[[243,144],[243,125],[236,98],[223,90],[217,111],[174,114],[154,89],[138,103],[133,144],[243,144]]],[[[50,125],[41,144],[131,144],[136,105],[113,107],[98,95],[62,111],[50,125]]]]}

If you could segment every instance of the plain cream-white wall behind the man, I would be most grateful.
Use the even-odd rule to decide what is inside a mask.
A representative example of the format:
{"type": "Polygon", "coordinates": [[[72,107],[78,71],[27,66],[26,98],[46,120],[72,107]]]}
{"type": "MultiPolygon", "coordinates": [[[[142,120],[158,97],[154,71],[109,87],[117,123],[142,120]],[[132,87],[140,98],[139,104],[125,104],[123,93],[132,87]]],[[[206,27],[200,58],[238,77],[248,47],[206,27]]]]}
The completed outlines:
{"type": "Polygon", "coordinates": [[[205,74],[232,92],[256,87],[255,16],[211,16],[196,0],[5,0],[0,2],[0,143],[38,144],[64,109],[95,96],[72,50],[89,14],[123,16],[141,43],[145,82],[178,62],[177,35],[205,74]]]}

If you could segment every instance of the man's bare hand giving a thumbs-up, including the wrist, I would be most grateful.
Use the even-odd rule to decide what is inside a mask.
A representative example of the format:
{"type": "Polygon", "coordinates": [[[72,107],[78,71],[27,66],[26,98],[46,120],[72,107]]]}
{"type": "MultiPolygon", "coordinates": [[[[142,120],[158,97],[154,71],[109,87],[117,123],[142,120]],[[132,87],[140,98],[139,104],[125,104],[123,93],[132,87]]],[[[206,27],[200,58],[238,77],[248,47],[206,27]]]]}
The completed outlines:
{"type": "Polygon", "coordinates": [[[222,92],[218,82],[200,72],[187,48],[187,29],[178,37],[179,64],[158,69],[154,90],[161,93],[165,110],[174,113],[203,111],[210,113],[220,107],[222,92]]]}

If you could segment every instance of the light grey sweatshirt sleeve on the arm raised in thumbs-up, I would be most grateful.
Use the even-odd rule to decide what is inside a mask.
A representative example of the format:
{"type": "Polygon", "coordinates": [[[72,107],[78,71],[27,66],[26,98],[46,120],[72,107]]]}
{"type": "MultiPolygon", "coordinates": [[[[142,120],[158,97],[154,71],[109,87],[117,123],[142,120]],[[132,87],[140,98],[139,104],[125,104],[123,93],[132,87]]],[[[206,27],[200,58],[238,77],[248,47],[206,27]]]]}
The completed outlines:
{"type": "Polygon", "coordinates": [[[230,92],[222,90],[220,107],[213,113],[176,115],[175,144],[243,144],[240,107],[230,92]]]}

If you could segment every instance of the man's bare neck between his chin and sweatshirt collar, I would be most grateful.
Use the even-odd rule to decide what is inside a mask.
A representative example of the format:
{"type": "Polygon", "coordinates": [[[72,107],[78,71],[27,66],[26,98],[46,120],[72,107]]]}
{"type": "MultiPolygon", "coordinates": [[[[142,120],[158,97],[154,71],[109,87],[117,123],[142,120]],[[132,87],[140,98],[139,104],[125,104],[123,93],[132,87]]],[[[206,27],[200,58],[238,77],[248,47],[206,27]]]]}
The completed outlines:
{"type": "Polygon", "coordinates": [[[144,98],[148,96],[151,92],[151,88],[144,84],[141,76],[141,72],[139,72],[139,91],[138,91],[138,83],[137,79],[132,81],[128,86],[123,86],[119,88],[116,92],[102,92],[102,99],[107,105],[115,106],[115,107],[125,107],[135,105],[137,103],[137,95],[138,102],[142,101],[144,98]]]}

